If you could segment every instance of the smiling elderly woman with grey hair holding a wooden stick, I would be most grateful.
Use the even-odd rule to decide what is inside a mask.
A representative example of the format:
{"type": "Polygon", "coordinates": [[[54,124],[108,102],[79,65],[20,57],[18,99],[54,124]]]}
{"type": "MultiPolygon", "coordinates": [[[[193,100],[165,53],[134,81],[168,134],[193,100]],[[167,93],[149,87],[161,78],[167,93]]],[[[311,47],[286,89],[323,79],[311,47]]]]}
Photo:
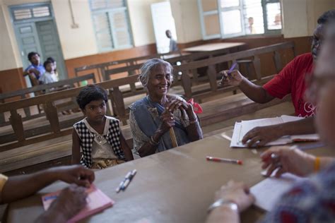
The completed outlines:
{"type": "Polygon", "coordinates": [[[144,157],[172,148],[170,128],[175,132],[177,145],[202,138],[192,104],[181,97],[167,95],[173,80],[169,63],[161,59],[146,61],[139,80],[148,96],[129,106],[135,154],[144,157]]]}

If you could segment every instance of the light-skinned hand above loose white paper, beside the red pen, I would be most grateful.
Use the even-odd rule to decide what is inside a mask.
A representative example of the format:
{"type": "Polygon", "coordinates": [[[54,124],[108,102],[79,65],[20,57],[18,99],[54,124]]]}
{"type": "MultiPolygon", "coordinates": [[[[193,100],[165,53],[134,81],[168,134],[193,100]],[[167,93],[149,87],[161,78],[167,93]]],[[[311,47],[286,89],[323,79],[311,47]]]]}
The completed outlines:
{"type": "Polygon", "coordinates": [[[314,168],[315,156],[302,152],[298,148],[281,146],[271,147],[261,154],[262,169],[268,168],[266,176],[278,169],[276,177],[286,172],[298,176],[311,174],[314,168]]]}

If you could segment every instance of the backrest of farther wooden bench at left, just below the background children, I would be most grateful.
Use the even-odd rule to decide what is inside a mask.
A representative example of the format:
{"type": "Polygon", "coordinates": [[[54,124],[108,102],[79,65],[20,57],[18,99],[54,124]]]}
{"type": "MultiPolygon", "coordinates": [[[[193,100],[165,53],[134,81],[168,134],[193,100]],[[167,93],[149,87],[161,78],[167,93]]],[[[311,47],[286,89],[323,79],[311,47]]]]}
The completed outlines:
{"type": "MultiPolygon", "coordinates": [[[[85,76],[70,78],[70,79],[66,79],[66,80],[59,80],[55,83],[49,83],[49,84],[44,84],[44,85],[36,85],[36,86],[31,87],[31,88],[25,88],[25,89],[16,90],[16,91],[13,91],[13,92],[5,92],[5,93],[2,93],[0,95],[0,102],[4,103],[6,100],[17,100],[18,97],[20,99],[25,99],[25,98],[29,97],[29,94],[31,94],[31,93],[34,93],[35,95],[41,95],[41,94],[49,93],[50,90],[52,90],[52,88],[55,88],[57,90],[61,90],[61,88],[63,86],[66,86],[66,88],[75,88],[75,87],[81,86],[81,82],[85,81],[85,80],[86,81],[91,80],[92,83],[96,83],[94,74],[90,73],[90,74],[87,74],[85,76]]],[[[66,88],[64,88],[64,89],[66,89],[66,88]]],[[[39,107],[38,104],[37,104],[37,107],[39,107]]],[[[59,111],[64,111],[64,110],[71,109],[71,108],[72,107],[69,107],[68,104],[63,103],[63,104],[61,104],[61,106],[59,106],[59,111]],[[62,109],[61,109],[61,107],[62,107],[62,109]]],[[[43,114],[40,114],[40,112],[38,114],[31,114],[30,113],[30,107],[24,107],[23,111],[24,111],[24,114],[25,114],[25,117],[23,117],[23,121],[43,116],[43,114]]],[[[6,126],[6,125],[9,125],[9,124],[10,124],[9,121],[5,120],[4,112],[0,112],[0,126],[6,126]]]]}

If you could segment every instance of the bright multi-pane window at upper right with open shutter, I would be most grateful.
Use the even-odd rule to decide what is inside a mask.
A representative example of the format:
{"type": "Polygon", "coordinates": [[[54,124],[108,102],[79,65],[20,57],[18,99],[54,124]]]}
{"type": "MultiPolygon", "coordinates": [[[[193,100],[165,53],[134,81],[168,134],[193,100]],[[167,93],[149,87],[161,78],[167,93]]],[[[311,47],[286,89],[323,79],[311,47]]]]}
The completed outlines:
{"type": "Polygon", "coordinates": [[[198,0],[204,40],[281,33],[279,0],[198,0]]]}

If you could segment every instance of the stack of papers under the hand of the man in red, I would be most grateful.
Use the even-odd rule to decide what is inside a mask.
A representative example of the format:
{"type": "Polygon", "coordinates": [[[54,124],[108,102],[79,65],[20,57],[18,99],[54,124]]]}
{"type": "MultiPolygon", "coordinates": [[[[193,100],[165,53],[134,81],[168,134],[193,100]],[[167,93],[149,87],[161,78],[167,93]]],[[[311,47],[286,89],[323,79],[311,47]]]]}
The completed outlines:
{"type": "MultiPolygon", "coordinates": [[[[248,131],[252,130],[252,128],[258,126],[272,126],[290,121],[298,121],[300,119],[304,118],[297,116],[283,115],[276,118],[254,119],[249,121],[236,122],[234,126],[234,132],[230,143],[230,147],[247,147],[246,145],[242,144],[242,138],[248,131]]],[[[319,135],[317,134],[286,135],[266,145],[285,145],[288,143],[293,143],[295,141],[316,141],[316,140],[319,140],[319,135]]]]}

